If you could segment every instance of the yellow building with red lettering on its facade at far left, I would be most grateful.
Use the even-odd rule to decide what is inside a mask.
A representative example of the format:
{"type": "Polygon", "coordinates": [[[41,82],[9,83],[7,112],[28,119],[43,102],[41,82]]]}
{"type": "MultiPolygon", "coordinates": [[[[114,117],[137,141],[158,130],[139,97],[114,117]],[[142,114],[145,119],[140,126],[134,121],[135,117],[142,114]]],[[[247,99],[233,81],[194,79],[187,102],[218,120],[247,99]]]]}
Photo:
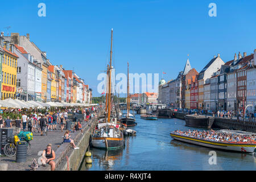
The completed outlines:
{"type": "Polygon", "coordinates": [[[2,59],[2,85],[1,100],[6,98],[16,98],[17,59],[18,56],[13,52],[14,45],[5,41],[2,45],[4,54],[2,59]]]}

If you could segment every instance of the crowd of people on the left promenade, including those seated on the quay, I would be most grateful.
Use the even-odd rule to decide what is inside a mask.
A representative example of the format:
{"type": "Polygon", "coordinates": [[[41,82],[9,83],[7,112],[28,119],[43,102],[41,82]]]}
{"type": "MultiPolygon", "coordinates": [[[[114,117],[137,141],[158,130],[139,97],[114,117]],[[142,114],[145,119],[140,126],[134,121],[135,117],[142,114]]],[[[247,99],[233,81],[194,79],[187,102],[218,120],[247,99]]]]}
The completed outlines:
{"type": "MultiPolygon", "coordinates": [[[[60,130],[63,132],[68,122],[73,122],[73,127],[66,130],[63,135],[63,143],[71,143],[73,149],[77,150],[79,147],[75,145],[75,142],[71,139],[71,131],[81,131],[82,125],[80,121],[88,122],[89,119],[97,117],[99,107],[84,107],[63,110],[57,110],[53,112],[46,111],[46,113],[37,113],[34,111],[31,114],[22,113],[22,117],[16,117],[11,121],[10,117],[7,116],[5,119],[0,115],[0,127],[1,128],[13,128],[14,134],[20,133],[20,131],[30,131],[31,133],[40,133],[44,136],[44,131],[55,131],[60,130]],[[80,117],[78,117],[80,114],[80,117]]],[[[1,155],[1,154],[0,154],[1,155]]],[[[49,164],[51,170],[55,170],[55,152],[52,150],[52,144],[49,143],[47,148],[42,154],[42,164],[45,166],[49,164]]]]}

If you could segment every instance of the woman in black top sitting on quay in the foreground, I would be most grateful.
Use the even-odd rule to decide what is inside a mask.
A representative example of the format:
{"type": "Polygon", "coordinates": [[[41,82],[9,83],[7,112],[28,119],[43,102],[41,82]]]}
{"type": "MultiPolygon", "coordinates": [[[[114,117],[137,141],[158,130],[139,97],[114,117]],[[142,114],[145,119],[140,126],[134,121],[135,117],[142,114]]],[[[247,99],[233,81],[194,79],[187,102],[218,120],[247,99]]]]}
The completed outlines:
{"type": "Polygon", "coordinates": [[[46,164],[51,166],[51,171],[55,171],[55,152],[52,150],[52,144],[49,143],[46,149],[43,151],[41,162],[45,167],[46,164]]]}

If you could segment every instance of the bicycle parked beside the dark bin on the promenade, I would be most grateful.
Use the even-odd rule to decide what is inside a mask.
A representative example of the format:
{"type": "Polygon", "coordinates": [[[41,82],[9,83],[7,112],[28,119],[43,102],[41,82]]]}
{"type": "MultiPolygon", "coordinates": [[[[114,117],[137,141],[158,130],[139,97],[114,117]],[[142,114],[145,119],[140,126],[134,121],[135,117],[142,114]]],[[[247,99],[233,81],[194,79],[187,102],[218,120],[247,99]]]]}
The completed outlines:
{"type": "MultiPolygon", "coordinates": [[[[20,141],[26,141],[27,142],[27,150],[28,153],[31,151],[31,144],[29,140],[25,140],[24,138],[21,138],[20,141]]],[[[5,153],[5,155],[7,157],[13,157],[14,155],[16,155],[16,143],[14,142],[14,138],[12,138],[11,140],[7,141],[8,143],[5,144],[5,147],[3,147],[3,152],[5,153]]],[[[19,142],[19,141],[17,141],[19,142]]]]}

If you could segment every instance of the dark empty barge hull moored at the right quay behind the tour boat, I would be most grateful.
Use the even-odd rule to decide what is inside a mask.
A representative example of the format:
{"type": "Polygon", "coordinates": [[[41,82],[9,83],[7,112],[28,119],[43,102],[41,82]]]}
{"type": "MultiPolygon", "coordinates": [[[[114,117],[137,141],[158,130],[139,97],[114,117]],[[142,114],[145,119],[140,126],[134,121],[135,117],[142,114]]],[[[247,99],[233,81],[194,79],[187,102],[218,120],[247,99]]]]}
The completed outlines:
{"type": "Polygon", "coordinates": [[[191,117],[188,115],[184,116],[185,122],[187,126],[191,127],[205,127],[210,128],[213,125],[214,118],[212,117],[191,117]]]}

